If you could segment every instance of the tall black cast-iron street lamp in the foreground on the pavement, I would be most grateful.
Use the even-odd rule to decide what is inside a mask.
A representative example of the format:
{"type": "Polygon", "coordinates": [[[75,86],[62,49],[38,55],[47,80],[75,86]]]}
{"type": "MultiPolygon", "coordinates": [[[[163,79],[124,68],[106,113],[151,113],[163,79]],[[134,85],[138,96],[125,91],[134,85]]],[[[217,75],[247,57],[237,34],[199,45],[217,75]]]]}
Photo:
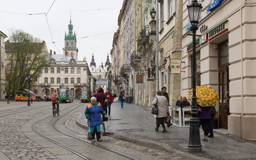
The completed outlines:
{"type": "Polygon", "coordinates": [[[199,132],[199,122],[197,118],[197,105],[196,105],[196,30],[198,29],[197,24],[199,21],[200,13],[202,10],[202,5],[198,1],[193,0],[190,5],[187,5],[188,15],[190,22],[192,24],[191,31],[193,36],[193,55],[192,55],[192,81],[193,81],[193,95],[192,95],[192,108],[189,121],[189,151],[198,152],[202,150],[202,145],[200,141],[200,132],[199,132]]]}

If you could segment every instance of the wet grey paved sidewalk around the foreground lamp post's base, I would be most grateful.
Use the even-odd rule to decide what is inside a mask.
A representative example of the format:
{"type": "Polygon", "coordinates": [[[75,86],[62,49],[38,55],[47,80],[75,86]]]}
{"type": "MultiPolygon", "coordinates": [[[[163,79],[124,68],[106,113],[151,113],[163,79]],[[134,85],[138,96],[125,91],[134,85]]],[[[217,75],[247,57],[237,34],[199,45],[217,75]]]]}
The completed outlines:
{"type": "MultiPolygon", "coordinates": [[[[155,131],[156,117],[150,113],[151,108],[119,102],[111,105],[111,115],[105,122],[106,133],[113,138],[130,141],[166,152],[176,152],[191,159],[256,159],[256,141],[247,141],[227,133],[227,129],[214,129],[214,138],[202,141],[204,132],[200,127],[202,152],[188,152],[189,127],[172,125],[167,133],[155,131]]],[[[86,127],[84,114],[77,118],[77,125],[86,127]]],[[[103,129],[102,129],[103,131],[103,129]]],[[[103,138],[104,139],[104,138],[103,138]]]]}

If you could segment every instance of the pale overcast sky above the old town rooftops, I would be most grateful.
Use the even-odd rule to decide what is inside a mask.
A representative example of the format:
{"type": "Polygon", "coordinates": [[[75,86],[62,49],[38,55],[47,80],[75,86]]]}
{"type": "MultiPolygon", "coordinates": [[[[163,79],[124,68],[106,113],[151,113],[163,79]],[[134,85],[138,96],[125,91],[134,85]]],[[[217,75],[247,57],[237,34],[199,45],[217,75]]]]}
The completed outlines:
{"type": "Polygon", "coordinates": [[[10,29],[22,29],[44,40],[48,51],[63,54],[71,15],[78,60],[86,56],[90,63],[93,53],[99,67],[102,62],[105,64],[112,48],[122,3],[123,0],[0,0],[0,31],[9,36],[10,29]]]}

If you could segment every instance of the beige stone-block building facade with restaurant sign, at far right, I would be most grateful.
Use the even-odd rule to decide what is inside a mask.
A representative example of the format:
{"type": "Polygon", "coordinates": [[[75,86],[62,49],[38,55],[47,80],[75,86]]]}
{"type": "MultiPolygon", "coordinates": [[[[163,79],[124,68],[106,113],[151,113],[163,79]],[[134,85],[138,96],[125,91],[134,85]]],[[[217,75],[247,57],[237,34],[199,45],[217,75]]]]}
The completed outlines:
{"type": "MultiPolygon", "coordinates": [[[[181,95],[191,89],[191,31],[183,1],[181,95]]],[[[196,35],[196,85],[214,88],[220,101],[218,127],[246,140],[256,140],[256,5],[253,0],[225,0],[213,10],[200,1],[202,13],[196,35]],[[208,8],[208,9],[207,9],[208,8]]]]}

